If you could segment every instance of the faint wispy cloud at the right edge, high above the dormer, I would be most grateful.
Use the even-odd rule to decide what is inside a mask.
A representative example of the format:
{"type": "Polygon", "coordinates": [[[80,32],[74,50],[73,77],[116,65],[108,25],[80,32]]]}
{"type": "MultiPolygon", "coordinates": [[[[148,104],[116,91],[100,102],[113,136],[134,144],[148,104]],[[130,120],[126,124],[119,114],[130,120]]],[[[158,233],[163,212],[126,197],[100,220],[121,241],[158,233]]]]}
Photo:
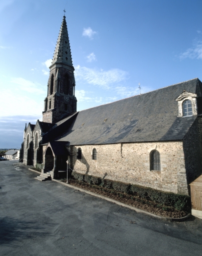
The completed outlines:
{"type": "Polygon", "coordinates": [[[193,46],[181,53],[179,58],[202,58],[202,40],[194,40],[193,46]]]}

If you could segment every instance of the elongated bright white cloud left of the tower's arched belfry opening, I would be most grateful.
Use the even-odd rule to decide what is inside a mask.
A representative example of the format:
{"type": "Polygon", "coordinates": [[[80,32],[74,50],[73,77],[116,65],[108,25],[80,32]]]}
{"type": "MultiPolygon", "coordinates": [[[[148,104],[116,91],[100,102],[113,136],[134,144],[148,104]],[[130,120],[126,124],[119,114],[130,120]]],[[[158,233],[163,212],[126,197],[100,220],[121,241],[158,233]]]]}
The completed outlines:
{"type": "Polygon", "coordinates": [[[15,89],[17,90],[23,90],[36,94],[45,94],[45,91],[41,89],[42,86],[39,83],[31,82],[22,77],[11,78],[10,81],[15,84],[15,89]]]}

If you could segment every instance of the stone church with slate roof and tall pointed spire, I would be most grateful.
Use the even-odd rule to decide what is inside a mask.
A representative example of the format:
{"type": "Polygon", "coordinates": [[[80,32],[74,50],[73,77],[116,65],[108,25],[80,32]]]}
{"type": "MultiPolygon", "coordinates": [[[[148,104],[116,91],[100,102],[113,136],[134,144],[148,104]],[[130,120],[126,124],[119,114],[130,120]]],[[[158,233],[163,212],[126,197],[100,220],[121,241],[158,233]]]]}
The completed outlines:
{"type": "Polygon", "coordinates": [[[24,129],[20,159],[57,178],[83,174],[189,194],[201,174],[202,83],[198,78],[77,111],[65,16],[42,121],[24,129]]]}

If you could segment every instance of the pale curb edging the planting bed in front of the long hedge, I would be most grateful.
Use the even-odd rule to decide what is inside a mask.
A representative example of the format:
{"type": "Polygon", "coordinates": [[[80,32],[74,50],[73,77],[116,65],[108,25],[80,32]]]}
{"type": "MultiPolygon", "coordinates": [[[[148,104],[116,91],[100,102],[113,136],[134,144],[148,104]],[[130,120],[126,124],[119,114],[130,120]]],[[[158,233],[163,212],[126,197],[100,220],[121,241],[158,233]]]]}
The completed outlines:
{"type": "MultiPolygon", "coordinates": [[[[31,169],[30,169],[30,170],[31,170],[31,169]]],[[[119,201],[110,199],[110,198],[108,198],[108,197],[106,197],[106,196],[103,196],[103,195],[100,195],[100,194],[96,194],[96,193],[90,192],[90,191],[85,190],[85,189],[83,189],[83,188],[80,188],[80,187],[77,187],[77,186],[73,186],[73,185],[70,185],[70,184],[68,184],[68,183],[61,182],[61,181],[59,181],[59,180],[57,180],[57,179],[52,179],[52,180],[53,180],[53,181],[56,181],[56,182],[58,182],[58,183],[60,183],[60,184],[62,184],[62,185],[71,187],[71,188],[73,188],[73,189],[79,190],[79,191],[84,192],[84,193],[87,193],[87,194],[91,194],[91,195],[93,195],[93,196],[102,198],[102,199],[107,200],[107,201],[109,201],[109,202],[116,203],[116,204],[121,205],[121,206],[123,206],[123,207],[132,209],[132,210],[134,210],[134,211],[136,211],[136,212],[141,212],[141,213],[150,215],[150,216],[155,217],[155,218],[159,218],[159,219],[163,219],[163,220],[169,220],[169,221],[183,221],[183,220],[185,220],[185,219],[187,219],[188,217],[191,216],[191,213],[188,213],[186,216],[180,217],[180,218],[171,218],[171,217],[159,216],[159,215],[156,215],[156,214],[154,214],[154,213],[148,212],[148,211],[146,211],[146,210],[141,210],[141,209],[136,208],[136,207],[134,207],[134,206],[125,204],[125,203],[123,203],[123,202],[119,202],[119,201]]]]}

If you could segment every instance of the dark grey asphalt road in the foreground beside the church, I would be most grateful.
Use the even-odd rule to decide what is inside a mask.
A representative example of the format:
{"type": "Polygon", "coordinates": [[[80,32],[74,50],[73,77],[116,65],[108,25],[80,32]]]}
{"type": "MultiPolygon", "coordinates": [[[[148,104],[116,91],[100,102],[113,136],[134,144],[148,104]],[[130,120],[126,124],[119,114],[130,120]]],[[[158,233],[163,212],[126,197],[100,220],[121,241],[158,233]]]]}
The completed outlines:
{"type": "Polygon", "coordinates": [[[155,219],[16,162],[0,161],[0,256],[202,254],[202,219],[155,219]]]}

